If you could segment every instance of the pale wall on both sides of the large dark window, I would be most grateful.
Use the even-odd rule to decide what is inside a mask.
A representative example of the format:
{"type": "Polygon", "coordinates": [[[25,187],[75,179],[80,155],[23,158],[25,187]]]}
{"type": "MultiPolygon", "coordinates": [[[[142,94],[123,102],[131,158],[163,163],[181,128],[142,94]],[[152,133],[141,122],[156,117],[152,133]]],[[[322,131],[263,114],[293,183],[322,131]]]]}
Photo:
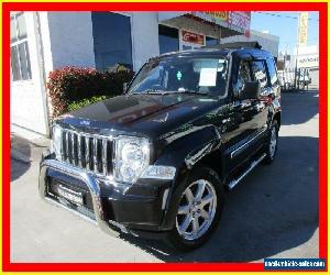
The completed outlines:
{"type": "MultiPolygon", "coordinates": [[[[133,68],[138,70],[160,54],[157,12],[122,14],[131,16],[133,68]]],[[[48,12],[48,21],[54,68],[96,66],[90,12],[48,12]]]]}

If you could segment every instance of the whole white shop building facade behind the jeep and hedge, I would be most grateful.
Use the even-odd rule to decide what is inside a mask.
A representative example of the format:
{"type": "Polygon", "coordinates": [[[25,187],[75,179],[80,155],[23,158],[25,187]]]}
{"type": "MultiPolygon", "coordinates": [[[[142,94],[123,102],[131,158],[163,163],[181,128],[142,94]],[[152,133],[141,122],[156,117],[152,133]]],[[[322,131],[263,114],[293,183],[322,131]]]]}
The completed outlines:
{"type": "Polygon", "coordinates": [[[65,66],[133,70],[158,54],[218,44],[250,31],[249,12],[14,12],[11,125],[48,135],[50,72],[65,66]]]}

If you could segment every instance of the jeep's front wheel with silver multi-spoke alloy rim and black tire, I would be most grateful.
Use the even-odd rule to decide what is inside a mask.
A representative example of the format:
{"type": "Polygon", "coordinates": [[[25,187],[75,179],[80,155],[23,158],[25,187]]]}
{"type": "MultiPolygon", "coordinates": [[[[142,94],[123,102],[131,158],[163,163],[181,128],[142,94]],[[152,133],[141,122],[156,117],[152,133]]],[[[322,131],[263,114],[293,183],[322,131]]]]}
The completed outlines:
{"type": "Polygon", "coordinates": [[[167,241],[177,250],[189,251],[202,245],[215,232],[223,209],[223,187],[215,170],[200,166],[179,189],[175,223],[167,241]]]}

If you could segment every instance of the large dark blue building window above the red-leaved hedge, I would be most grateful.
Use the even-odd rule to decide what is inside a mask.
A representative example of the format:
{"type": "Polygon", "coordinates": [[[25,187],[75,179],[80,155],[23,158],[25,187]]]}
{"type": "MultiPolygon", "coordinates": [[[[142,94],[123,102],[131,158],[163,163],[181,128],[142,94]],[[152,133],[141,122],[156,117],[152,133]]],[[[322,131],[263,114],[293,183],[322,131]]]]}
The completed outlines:
{"type": "Polygon", "coordinates": [[[112,12],[92,12],[96,67],[111,70],[118,65],[132,69],[131,18],[112,12]]]}

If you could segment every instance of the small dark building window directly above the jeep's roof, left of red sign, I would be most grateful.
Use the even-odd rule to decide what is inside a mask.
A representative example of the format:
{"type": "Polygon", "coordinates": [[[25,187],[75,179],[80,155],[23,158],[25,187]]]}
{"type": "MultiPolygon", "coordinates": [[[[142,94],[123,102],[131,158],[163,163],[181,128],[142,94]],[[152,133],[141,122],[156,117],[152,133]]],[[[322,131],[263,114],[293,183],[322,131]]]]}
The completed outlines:
{"type": "Polygon", "coordinates": [[[178,30],[166,25],[158,25],[160,53],[179,51],[178,30]]]}

